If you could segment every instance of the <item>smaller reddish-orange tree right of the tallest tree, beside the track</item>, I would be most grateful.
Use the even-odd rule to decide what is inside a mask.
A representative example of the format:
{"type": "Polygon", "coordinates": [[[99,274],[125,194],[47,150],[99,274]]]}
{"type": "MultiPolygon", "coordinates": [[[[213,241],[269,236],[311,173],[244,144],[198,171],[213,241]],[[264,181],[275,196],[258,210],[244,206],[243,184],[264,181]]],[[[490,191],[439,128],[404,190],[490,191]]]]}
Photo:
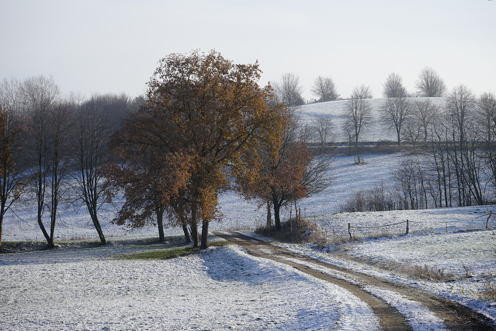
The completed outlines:
{"type": "Polygon", "coordinates": [[[295,120],[285,123],[276,139],[262,139],[256,153],[233,167],[236,189],[259,205],[272,204],[276,231],[281,230],[280,209],[324,191],[331,183],[330,158],[315,157],[298,137],[295,120]]]}

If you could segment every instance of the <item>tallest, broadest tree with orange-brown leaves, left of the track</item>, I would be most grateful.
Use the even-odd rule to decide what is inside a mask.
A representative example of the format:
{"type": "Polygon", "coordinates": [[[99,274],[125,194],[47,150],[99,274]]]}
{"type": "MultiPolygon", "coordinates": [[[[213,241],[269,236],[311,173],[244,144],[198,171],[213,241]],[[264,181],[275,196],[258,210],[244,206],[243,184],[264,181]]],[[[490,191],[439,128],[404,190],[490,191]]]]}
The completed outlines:
{"type": "Polygon", "coordinates": [[[221,217],[218,195],[229,184],[226,167],[279,126],[280,112],[268,106],[270,86],[258,85],[260,73],[257,63],[236,65],[216,51],[171,54],[160,60],[145,104],[130,120],[135,125],[125,133],[136,157],[144,151],[187,157],[186,184],[168,202],[182,213],[178,218],[187,218],[194,246],[197,222],[206,248],[209,222],[221,217]]]}

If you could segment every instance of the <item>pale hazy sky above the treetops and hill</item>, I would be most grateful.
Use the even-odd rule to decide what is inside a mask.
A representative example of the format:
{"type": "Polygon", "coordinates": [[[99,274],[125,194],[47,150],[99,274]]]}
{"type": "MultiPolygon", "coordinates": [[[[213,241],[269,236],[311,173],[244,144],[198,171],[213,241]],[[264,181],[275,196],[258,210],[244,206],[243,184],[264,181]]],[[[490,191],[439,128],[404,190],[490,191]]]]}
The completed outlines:
{"type": "Polygon", "coordinates": [[[53,75],[63,92],[144,94],[159,59],[215,49],[258,61],[260,85],[317,76],[341,97],[390,72],[409,91],[425,66],[448,90],[496,92],[491,0],[0,0],[0,79],[53,75]]]}

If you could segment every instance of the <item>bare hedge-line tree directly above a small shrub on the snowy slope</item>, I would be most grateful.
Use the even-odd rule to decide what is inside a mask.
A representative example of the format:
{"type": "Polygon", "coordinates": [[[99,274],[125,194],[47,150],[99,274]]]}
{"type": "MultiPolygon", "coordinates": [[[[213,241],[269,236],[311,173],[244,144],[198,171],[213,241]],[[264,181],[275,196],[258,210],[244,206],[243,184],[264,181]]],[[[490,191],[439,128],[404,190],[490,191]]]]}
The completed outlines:
{"type": "Polygon", "coordinates": [[[360,133],[372,123],[372,107],[367,101],[369,98],[372,98],[370,86],[356,86],[350,99],[346,102],[342,115],[345,126],[354,130],[353,136],[357,149],[360,133]]]}

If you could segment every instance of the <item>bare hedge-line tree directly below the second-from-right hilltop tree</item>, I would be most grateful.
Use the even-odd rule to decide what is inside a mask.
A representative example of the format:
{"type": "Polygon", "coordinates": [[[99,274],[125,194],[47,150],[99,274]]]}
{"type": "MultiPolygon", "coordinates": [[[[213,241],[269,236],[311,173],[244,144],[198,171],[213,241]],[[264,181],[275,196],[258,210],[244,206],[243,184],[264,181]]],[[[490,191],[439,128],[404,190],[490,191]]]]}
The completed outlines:
{"type": "Polygon", "coordinates": [[[387,98],[384,101],[380,113],[380,120],[384,125],[395,130],[398,145],[401,145],[402,130],[408,121],[410,121],[411,113],[412,101],[410,98],[387,98]]]}

